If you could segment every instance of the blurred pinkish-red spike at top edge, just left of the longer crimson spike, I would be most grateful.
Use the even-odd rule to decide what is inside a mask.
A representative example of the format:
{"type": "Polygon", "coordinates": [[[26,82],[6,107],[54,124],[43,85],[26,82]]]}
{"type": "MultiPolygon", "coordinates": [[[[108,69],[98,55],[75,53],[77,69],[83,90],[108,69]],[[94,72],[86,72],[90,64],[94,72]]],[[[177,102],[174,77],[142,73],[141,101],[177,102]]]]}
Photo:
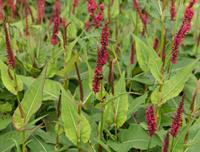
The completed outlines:
{"type": "Polygon", "coordinates": [[[45,14],[45,0],[37,0],[38,23],[41,24],[45,14]]]}

